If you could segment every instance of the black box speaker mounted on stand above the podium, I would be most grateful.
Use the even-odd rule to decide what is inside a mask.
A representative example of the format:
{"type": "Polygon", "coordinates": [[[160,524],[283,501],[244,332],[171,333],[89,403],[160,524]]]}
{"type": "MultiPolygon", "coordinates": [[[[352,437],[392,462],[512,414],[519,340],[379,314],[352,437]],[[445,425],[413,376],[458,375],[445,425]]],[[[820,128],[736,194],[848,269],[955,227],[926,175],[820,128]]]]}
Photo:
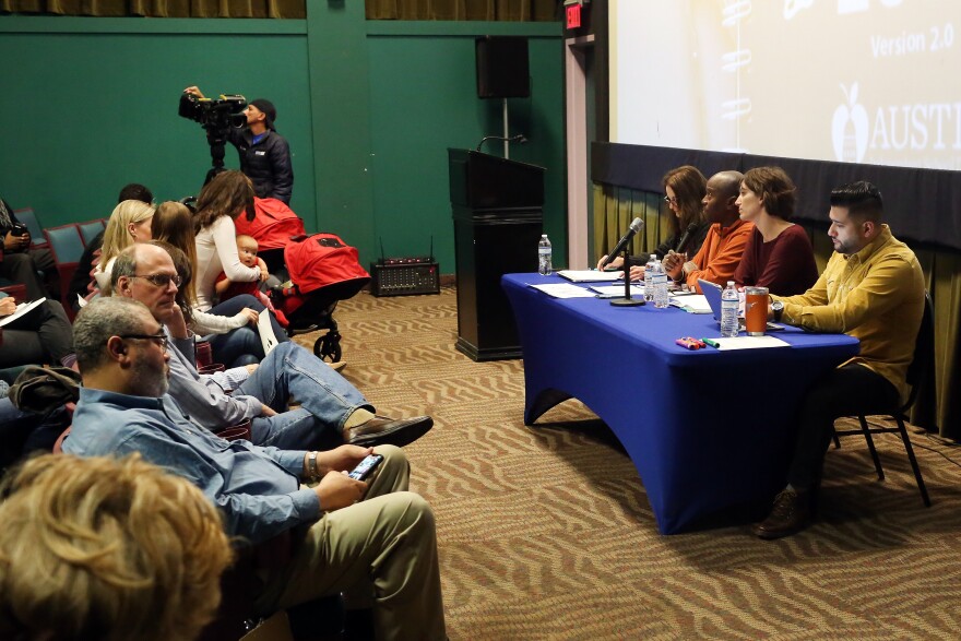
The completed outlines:
{"type": "Polygon", "coordinates": [[[527,38],[484,36],[475,40],[477,97],[526,98],[531,95],[527,38]]]}

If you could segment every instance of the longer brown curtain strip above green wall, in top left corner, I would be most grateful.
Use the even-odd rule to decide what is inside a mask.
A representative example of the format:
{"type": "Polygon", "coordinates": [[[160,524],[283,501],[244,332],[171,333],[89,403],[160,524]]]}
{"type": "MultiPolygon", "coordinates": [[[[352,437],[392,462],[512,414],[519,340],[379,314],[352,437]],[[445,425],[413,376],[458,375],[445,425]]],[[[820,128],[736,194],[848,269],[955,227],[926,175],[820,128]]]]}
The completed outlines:
{"type": "Polygon", "coordinates": [[[0,12],[97,17],[307,17],[306,0],[0,0],[0,12]]]}

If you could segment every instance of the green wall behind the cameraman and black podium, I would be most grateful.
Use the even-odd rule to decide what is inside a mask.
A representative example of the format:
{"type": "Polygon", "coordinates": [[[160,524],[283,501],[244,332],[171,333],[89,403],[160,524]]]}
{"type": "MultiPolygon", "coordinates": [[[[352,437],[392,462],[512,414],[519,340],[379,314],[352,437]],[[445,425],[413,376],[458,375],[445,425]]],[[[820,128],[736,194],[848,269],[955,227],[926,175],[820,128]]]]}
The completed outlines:
{"type": "MultiPolygon", "coordinates": [[[[559,24],[364,20],[363,3],[311,4],[306,21],[0,19],[0,195],[46,226],[102,217],[127,182],[157,199],[197,193],[210,168],[200,126],[177,116],[180,91],[269,97],[290,142],[292,206],[379,254],[427,252],[453,273],[447,147],[501,132],[499,100],[476,97],[474,37],[531,37],[530,99],[510,100],[511,157],[547,168],[545,230],[565,238],[559,24]]],[[[488,143],[489,144],[489,143],[488,143]]],[[[486,149],[500,153],[500,145],[486,149]]],[[[237,166],[228,146],[226,165],[237,166]]],[[[532,248],[533,251],[533,248],[532,248]]]]}

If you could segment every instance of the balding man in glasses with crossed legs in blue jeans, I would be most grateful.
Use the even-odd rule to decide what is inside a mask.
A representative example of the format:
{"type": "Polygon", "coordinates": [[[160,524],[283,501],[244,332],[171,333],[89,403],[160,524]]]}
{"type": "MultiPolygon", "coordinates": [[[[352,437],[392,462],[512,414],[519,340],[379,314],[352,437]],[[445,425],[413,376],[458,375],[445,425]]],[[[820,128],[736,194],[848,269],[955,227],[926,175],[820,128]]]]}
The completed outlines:
{"type": "Polygon", "coordinates": [[[176,347],[169,351],[170,395],[197,424],[221,431],[250,419],[253,442],[278,448],[311,447],[321,440],[404,446],[434,425],[429,416],[377,416],[356,388],[296,343],[281,343],[259,367],[199,375],[195,344],[176,304],[179,281],[170,256],[151,244],[128,248],[114,268],[115,295],[146,305],[165,325],[165,333],[154,339],[176,347]],[[288,409],[292,396],[300,407],[288,409]]]}

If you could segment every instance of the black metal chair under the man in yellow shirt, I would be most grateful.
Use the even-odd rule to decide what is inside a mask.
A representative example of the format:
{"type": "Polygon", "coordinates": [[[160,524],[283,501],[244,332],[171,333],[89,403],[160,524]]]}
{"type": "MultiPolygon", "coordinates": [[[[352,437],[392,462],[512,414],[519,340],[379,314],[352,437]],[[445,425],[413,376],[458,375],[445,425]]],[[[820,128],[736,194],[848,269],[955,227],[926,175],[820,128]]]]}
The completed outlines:
{"type": "Polygon", "coordinates": [[[930,365],[935,355],[935,320],[934,305],[930,295],[924,293],[924,316],[921,319],[921,328],[917,330],[917,339],[914,342],[914,358],[907,367],[907,384],[911,385],[911,394],[907,402],[900,407],[892,407],[890,412],[891,418],[898,424],[897,427],[873,427],[867,423],[865,416],[858,416],[861,429],[843,429],[834,430],[834,447],[840,448],[841,442],[838,437],[862,435],[867,441],[867,448],[870,450],[871,459],[875,461],[875,470],[878,471],[878,480],[885,479],[885,471],[881,468],[881,460],[875,448],[875,441],[871,438],[874,434],[899,434],[901,440],[904,441],[904,449],[907,451],[907,460],[911,462],[911,468],[914,471],[914,479],[917,482],[917,489],[921,490],[921,498],[926,507],[930,507],[930,498],[927,495],[927,487],[924,485],[924,478],[921,476],[921,467],[917,466],[917,459],[914,456],[914,449],[911,447],[911,439],[907,438],[907,429],[904,420],[907,412],[914,405],[917,399],[917,391],[927,382],[929,378],[930,365]]]}

